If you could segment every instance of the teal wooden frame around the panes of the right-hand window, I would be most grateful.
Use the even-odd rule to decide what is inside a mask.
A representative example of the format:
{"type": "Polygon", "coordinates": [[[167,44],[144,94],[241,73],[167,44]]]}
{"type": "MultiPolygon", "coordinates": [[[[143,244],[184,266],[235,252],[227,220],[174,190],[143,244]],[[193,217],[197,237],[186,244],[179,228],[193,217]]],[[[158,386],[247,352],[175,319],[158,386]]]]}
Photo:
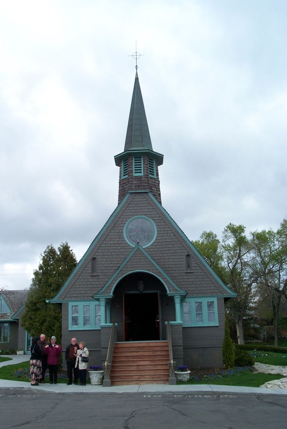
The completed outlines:
{"type": "Polygon", "coordinates": [[[192,297],[192,298],[189,298],[189,297],[185,298],[181,302],[182,315],[184,314],[183,313],[183,304],[185,302],[189,302],[190,303],[191,322],[190,323],[183,322],[183,326],[193,326],[193,327],[195,327],[195,326],[219,326],[219,323],[218,323],[217,298],[216,298],[216,296],[213,296],[213,297],[202,296],[200,298],[194,298],[194,297],[192,297]],[[208,321],[207,301],[214,302],[215,320],[213,322],[209,322],[208,321]],[[203,321],[202,322],[197,322],[196,321],[195,302],[202,302],[202,314],[203,314],[203,321]]]}

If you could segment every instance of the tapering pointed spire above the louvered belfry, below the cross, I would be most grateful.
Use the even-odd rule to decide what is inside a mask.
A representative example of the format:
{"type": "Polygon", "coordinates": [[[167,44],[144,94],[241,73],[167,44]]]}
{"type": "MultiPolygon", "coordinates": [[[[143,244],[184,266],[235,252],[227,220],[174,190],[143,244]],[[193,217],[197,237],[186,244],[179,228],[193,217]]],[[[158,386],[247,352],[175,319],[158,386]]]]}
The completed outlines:
{"type": "Polygon", "coordinates": [[[140,82],[138,80],[138,71],[135,73],[135,85],[132,94],[124,151],[129,149],[149,149],[152,151],[152,142],[149,136],[149,127],[146,120],[140,82]]]}

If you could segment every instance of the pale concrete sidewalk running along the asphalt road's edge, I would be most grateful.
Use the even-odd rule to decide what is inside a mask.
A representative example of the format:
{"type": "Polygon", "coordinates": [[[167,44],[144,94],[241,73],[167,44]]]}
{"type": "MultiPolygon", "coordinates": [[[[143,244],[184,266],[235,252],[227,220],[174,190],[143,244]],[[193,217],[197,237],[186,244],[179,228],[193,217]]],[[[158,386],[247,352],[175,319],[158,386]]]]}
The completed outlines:
{"type": "MultiPolygon", "coordinates": [[[[1,355],[3,357],[12,358],[6,362],[1,362],[0,367],[5,365],[12,365],[14,363],[26,362],[29,360],[29,355],[17,356],[17,355],[1,355]]],[[[210,393],[219,393],[219,394],[260,394],[260,395],[287,395],[287,390],[285,389],[266,389],[264,387],[241,387],[241,386],[219,386],[216,384],[187,384],[187,385],[176,385],[169,386],[168,384],[137,384],[129,386],[111,386],[111,387],[102,387],[102,386],[92,386],[87,384],[86,386],[75,386],[72,384],[67,386],[67,384],[39,384],[39,386],[31,386],[30,383],[25,381],[12,381],[12,380],[2,380],[0,379],[0,389],[23,389],[47,393],[90,393],[90,394],[111,394],[111,393],[141,393],[141,394],[150,394],[150,395],[183,395],[183,394],[203,394],[208,395],[210,393]]]]}

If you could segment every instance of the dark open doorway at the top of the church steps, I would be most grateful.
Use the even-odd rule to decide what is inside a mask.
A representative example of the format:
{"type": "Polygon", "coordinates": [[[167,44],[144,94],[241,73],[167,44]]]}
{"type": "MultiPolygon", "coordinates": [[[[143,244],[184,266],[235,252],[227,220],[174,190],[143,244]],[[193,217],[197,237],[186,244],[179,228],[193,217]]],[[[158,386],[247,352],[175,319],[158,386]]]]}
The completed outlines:
{"type": "Polygon", "coordinates": [[[124,293],[125,341],[160,339],[158,293],[124,293]]]}

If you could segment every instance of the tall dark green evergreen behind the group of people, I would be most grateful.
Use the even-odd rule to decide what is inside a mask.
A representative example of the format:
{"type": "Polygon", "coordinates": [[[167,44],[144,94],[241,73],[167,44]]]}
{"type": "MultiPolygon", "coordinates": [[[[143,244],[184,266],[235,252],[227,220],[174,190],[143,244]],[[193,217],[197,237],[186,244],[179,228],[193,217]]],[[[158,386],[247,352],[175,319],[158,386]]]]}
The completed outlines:
{"type": "Polygon", "coordinates": [[[75,254],[67,242],[57,250],[49,245],[41,254],[41,262],[34,270],[28,291],[25,313],[21,317],[21,325],[31,336],[44,333],[46,336],[55,335],[60,341],[61,309],[48,304],[46,299],[51,299],[60,290],[76,264],[75,254]]]}

